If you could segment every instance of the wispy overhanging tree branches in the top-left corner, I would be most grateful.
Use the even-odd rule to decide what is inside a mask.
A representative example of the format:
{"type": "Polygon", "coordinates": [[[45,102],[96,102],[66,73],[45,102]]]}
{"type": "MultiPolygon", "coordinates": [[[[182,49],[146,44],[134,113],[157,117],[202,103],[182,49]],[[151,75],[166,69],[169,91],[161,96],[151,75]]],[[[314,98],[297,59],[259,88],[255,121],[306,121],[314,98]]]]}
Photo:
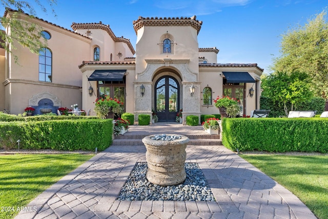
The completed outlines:
{"type": "MultiPolygon", "coordinates": [[[[38,54],[40,48],[47,47],[47,40],[42,37],[42,29],[35,23],[30,22],[36,15],[33,5],[47,12],[46,7],[39,0],[30,1],[30,3],[28,1],[0,0],[0,3],[6,8],[4,16],[0,16],[0,28],[5,28],[10,33],[6,34],[6,31],[0,30],[1,47],[12,53],[12,50],[16,49],[13,42],[17,41],[35,54],[38,54]],[[25,14],[24,10],[28,14],[25,14]]],[[[56,0],[47,0],[47,3],[52,8],[56,4],[56,0]]],[[[52,12],[54,13],[53,9],[52,12]]],[[[14,59],[17,63],[18,57],[16,55],[14,55],[14,59]]]]}

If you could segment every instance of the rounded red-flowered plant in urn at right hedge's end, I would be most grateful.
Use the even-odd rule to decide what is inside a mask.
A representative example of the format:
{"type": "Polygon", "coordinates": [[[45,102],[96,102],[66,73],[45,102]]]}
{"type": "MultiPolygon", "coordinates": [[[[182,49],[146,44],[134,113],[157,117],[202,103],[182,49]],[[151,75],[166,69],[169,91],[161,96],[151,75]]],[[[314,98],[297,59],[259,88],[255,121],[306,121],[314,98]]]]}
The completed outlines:
{"type": "Polygon", "coordinates": [[[239,112],[239,100],[229,96],[217,97],[214,100],[214,105],[219,109],[221,118],[236,117],[239,112]]]}

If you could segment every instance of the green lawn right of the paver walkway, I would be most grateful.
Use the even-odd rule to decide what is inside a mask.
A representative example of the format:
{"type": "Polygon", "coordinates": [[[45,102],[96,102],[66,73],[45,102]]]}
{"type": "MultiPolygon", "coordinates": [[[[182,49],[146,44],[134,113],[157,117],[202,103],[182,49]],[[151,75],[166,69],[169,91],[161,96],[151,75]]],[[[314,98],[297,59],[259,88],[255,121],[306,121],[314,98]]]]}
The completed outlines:
{"type": "Polygon", "coordinates": [[[328,156],[240,155],[328,218],[328,156]]]}

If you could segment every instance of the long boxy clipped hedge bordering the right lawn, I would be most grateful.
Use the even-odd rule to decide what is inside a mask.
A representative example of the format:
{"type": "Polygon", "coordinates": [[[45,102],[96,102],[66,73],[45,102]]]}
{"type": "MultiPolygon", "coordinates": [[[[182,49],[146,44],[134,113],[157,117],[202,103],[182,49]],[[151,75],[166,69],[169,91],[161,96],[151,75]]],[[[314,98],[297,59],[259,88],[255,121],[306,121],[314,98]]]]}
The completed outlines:
{"type": "Polygon", "coordinates": [[[328,152],[325,118],[224,118],[222,143],[233,151],[328,152]]]}

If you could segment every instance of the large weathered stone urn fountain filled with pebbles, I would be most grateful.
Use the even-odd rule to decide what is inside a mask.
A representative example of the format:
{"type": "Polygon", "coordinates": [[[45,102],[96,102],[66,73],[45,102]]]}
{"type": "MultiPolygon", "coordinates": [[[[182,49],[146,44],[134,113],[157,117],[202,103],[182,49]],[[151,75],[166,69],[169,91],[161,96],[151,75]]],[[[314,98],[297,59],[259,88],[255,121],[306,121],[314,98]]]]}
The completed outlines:
{"type": "Polygon", "coordinates": [[[149,182],[169,186],[186,180],[186,147],[189,138],[182,135],[158,134],[146,136],[146,161],[149,182]]]}

